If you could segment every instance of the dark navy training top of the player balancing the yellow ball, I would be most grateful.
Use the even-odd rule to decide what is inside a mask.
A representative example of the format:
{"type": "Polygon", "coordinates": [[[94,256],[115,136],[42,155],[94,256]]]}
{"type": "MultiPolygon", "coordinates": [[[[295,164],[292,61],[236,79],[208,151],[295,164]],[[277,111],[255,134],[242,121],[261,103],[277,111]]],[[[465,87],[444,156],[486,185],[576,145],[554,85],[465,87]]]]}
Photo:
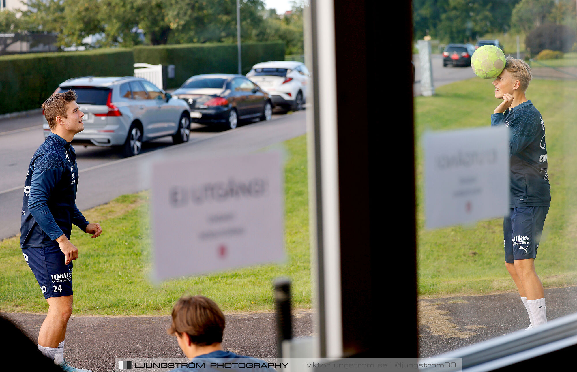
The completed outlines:
{"type": "Polygon", "coordinates": [[[523,102],[503,114],[491,115],[491,126],[511,128],[511,201],[509,208],[549,206],[551,186],[547,175],[545,124],[531,101],[523,102]]]}

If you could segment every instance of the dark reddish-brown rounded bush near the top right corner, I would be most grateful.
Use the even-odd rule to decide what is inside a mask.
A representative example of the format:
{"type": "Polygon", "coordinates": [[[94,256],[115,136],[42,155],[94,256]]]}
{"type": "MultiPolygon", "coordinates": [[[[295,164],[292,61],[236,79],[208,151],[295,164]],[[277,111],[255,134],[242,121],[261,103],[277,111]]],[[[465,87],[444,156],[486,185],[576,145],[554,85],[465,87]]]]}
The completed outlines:
{"type": "Polygon", "coordinates": [[[575,30],[556,24],[545,24],[534,28],[525,39],[525,45],[531,55],[538,55],[544,49],[567,53],[571,51],[574,43],[575,30]]]}

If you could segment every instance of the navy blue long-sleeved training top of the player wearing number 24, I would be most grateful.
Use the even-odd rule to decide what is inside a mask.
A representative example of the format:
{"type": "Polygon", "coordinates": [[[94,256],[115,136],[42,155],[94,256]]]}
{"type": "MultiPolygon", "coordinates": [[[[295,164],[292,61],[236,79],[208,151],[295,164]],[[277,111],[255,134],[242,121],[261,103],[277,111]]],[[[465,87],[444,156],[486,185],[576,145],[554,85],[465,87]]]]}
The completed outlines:
{"type": "Polygon", "coordinates": [[[72,224],[86,231],[88,221],[76,207],[78,166],[69,142],[50,133],[28,166],[22,202],[20,246],[46,247],[62,234],[70,239],[72,224]]]}

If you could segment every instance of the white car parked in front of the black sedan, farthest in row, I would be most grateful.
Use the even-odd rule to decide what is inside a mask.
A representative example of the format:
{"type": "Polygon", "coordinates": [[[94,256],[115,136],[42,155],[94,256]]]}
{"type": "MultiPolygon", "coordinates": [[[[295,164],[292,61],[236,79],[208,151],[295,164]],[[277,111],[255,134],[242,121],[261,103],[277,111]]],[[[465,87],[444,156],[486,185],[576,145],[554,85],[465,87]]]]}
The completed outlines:
{"type": "Polygon", "coordinates": [[[274,106],[285,110],[302,110],[310,80],[304,63],[261,62],[254,65],[246,77],[269,93],[274,106]]]}

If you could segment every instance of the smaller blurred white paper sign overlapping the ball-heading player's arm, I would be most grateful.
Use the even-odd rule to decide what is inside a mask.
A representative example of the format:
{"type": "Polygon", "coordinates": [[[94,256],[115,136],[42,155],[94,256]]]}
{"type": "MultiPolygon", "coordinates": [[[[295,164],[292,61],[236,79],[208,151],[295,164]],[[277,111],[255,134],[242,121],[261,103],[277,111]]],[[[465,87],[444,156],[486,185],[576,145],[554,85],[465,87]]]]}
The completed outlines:
{"type": "Polygon", "coordinates": [[[509,213],[509,129],[426,133],[426,227],[470,224],[509,213]]]}

